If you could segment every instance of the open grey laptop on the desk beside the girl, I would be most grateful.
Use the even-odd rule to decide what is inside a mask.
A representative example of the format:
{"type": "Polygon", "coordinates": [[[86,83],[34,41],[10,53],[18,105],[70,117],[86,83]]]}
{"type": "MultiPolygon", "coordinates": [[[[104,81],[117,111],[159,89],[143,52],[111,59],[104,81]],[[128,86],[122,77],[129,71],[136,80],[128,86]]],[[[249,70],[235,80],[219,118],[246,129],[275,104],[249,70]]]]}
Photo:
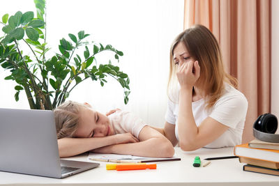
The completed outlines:
{"type": "Polygon", "coordinates": [[[53,111],[0,108],[0,171],[65,178],[99,165],[60,160],[53,111]]]}

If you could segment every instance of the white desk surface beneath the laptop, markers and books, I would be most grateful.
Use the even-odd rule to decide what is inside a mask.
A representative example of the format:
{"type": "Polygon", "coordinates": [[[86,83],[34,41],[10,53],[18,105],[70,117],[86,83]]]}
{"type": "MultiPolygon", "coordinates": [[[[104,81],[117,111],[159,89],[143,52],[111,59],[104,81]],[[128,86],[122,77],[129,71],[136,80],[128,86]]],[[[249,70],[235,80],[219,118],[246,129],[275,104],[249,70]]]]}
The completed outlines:
{"type": "MultiPolygon", "coordinates": [[[[195,156],[201,158],[233,155],[233,148],[183,152],[176,148],[181,161],[158,162],[156,170],[107,171],[100,166],[63,179],[28,176],[0,171],[0,185],[279,185],[279,176],[242,171],[239,160],[212,160],[206,167],[193,167],[195,156]]],[[[87,161],[87,155],[66,158],[87,161]]]]}

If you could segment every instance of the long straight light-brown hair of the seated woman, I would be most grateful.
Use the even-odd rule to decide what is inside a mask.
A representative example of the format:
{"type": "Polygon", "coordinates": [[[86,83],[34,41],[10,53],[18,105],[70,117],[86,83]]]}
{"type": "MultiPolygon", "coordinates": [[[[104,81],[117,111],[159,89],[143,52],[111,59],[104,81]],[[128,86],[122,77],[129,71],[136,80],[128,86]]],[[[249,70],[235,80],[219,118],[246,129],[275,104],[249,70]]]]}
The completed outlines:
{"type": "MultiPolygon", "coordinates": [[[[206,108],[213,107],[223,94],[224,82],[237,88],[236,78],[227,74],[223,67],[223,59],[216,38],[205,26],[197,24],[179,34],[170,48],[170,70],[168,82],[168,95],[171,96],[172,88],[177,84],[176,67],[174,66],[174,48],[182,42],[190,56],[199,62],[200,75],[196,86],[202,88],[206,94],[206,108]]],[[[172,99],[171,99],[172,100],[172,99]]]]}

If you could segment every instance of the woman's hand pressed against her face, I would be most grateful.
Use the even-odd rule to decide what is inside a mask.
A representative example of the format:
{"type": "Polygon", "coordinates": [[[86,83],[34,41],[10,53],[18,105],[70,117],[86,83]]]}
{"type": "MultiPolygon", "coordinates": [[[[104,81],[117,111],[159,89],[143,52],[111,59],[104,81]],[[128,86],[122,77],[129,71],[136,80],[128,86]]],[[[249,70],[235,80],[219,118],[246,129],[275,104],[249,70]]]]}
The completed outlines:
{"type": "Polygon", "coordinates": [[[189,61],[188,63],[179,63],[178,71],[176,72],[177,79],[181,88],[192,89],[199,79],[199,63],[197,61],[189,61]]]}

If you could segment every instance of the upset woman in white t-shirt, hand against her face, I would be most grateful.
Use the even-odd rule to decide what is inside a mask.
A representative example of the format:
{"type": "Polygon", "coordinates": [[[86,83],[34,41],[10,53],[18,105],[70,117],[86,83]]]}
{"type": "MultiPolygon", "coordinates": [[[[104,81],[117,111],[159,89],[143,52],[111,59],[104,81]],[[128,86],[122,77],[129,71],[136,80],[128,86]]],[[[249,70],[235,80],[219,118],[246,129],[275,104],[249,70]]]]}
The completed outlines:
{"type": "Polygon", "coordinates": [[[202,25],[183,31],[170,54],[166,123],[158,130],[187,151],[241,144],[248,102],[225,72],[211,31],[202,25]]]}

